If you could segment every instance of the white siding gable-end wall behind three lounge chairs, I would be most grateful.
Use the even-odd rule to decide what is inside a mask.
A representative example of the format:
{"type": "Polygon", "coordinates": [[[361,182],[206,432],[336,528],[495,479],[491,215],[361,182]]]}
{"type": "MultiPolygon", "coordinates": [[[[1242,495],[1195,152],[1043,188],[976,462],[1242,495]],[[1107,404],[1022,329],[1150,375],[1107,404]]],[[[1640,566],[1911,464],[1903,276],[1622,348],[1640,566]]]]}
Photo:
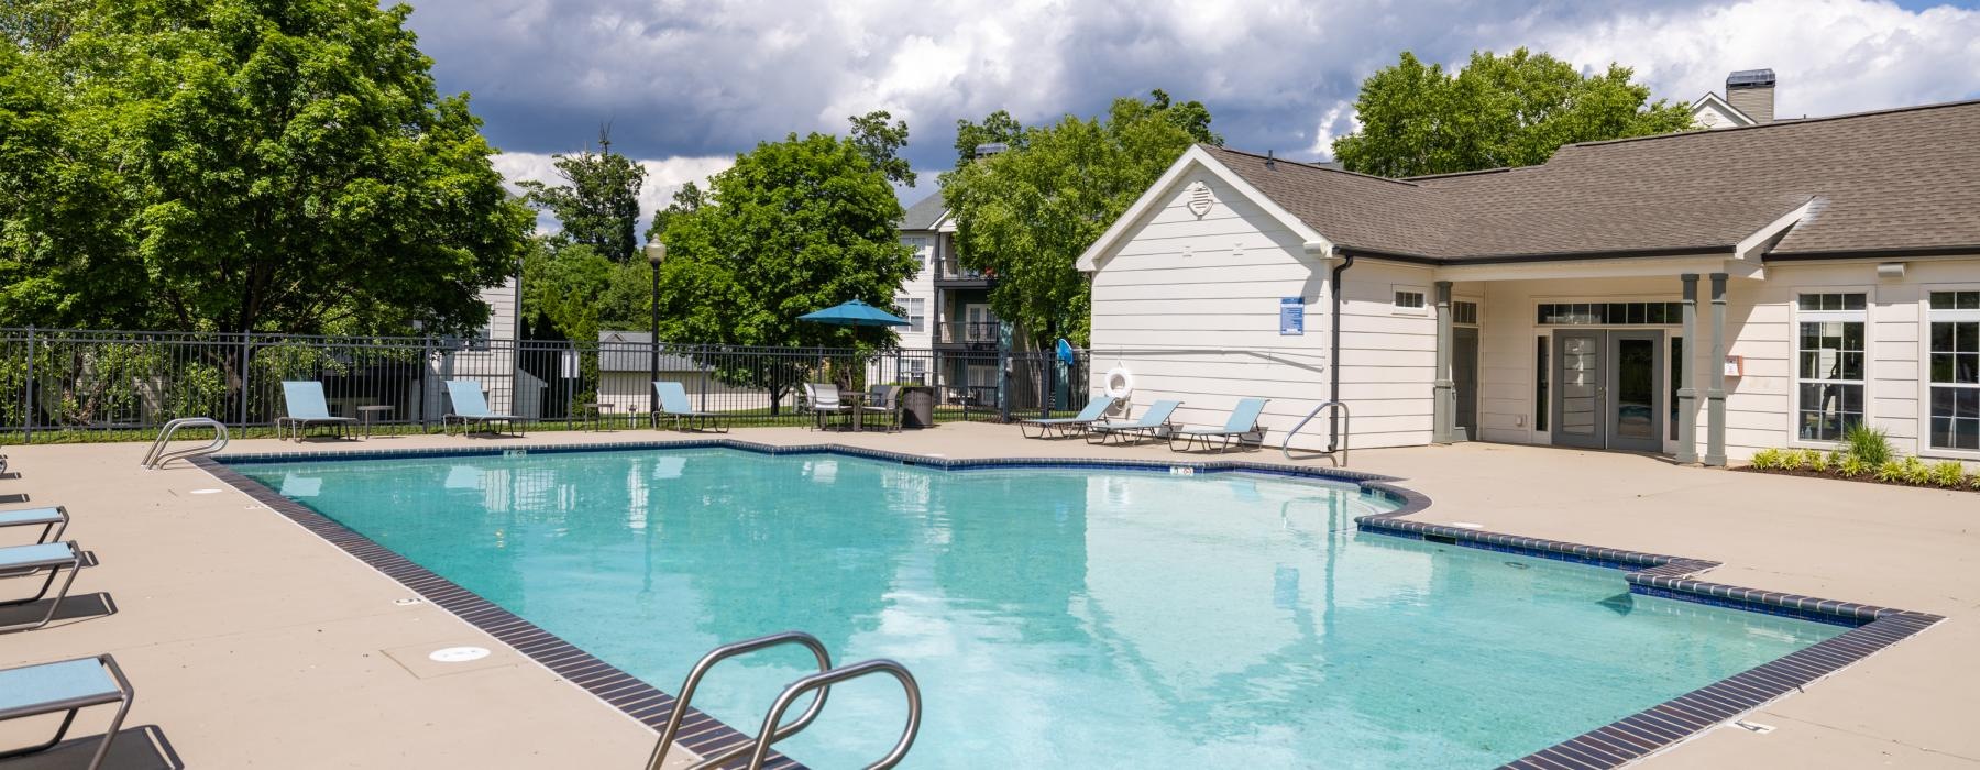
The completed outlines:
{"type": "MultiPolygon", "coordinates": [[[[1245,396],[1271,398],[1263,426],[1283,432],[1327,398],[1327,263],[1261,208],[1196,172],[1138,232],[1099,259],[1093,275],[1093,382],[1113,366],[1135,372],[1137,414],[1160,398],[1182,400],[1178,422],[1222,426],[1245,396]],[[1180,190],[1202,180],[1216,206],[1202,218],[1180,190]],[[1303,337],[1279,335],[1279,299],[1307,301],[1303,337]]],[[[1354,445],[1362,416],[1356,414],[1354,445]]],[[[1374,418],[1380,420],[1380,418],[1374,418]]],[[[1374,422],[1370,420],[1370,422],[1374,422]]],[[[1327,432],[1295,445],[1325,445],[1327,432]]]]}

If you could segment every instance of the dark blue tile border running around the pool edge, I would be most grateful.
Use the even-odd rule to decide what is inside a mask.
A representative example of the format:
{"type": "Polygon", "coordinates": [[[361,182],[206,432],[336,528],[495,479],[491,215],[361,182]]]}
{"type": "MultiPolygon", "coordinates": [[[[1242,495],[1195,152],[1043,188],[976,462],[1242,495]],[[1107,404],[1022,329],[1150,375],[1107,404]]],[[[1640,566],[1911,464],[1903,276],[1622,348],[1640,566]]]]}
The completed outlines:
{"type": "MultiPolygon", "coordinates": [[[[422,447],[422,449],[354,449],[354,451],[263,451],[234,453],[216,457],[194,457],[192,463],[214,475],[218,481],[240,489],[275,513],[295,521],[305,530],[343,548],[374,570],[398,580],[418,592],[428,602],[451,612],[469,626],[475,626],[519,653],[548,667],[608,705],[620,709],[634,721],[653,728],[665,726],[673,711],[673,695],[640,681],[626,671],[578,649],[550,631],[515,616],[493,602],[426,570],[412,560],[384,548],[370,538],[319,515],[303,503],[281,497],[281,493],[232,469],[232,465],[255,463],[297,463],[297,461],[360,461],[360,459],[416,459],[416,457],[525,457],[535,453],[582,453],[582,451],[649,451],[649,449],[742,449],[764,455],[843,455],[903,465],[935,467],[944,471],[972,469],[1109,469],[1109,471],[1150,471],[1150,473],[1263,473],[1295,479],[1315,479],[1331,483],[1350,483],[1380,495],[1396,505],[1394,511],[1358,517],[1356,529],[1362,532],[1400,536],[1412,540],[1443,542],[1465,548],[1483,548],[1534,558],[1564,560],[1614,568],[1624,572],[1632,594],[1667,598],[1679,602],[1721,606],[1731,610],[1760,612],[1770,616],[1798,618],[1820,624],[1847,626],[1841,635],[1782,655],[1748,671],[1705,685],[1671,701],[1643,709],[1632,717],[1562,740],[1554,746],[1527,754],[1505,764],[1507,768],[1562,770],[1562,768],[1618,768],[1677,746],[1705,730],[1738,719],[1744,713],[1764,707],[1780,697],[1800,691],[1808,683],[1830,677],[1855,661],[1861,661],[1885,647],[1895,645],[1919,631],[1925,631],[1942,618],[1923,612],[1875,608],[1867,604],[1822,600],[1812,596],[1778,594],[1754,588],[1703,582],[1695,576],[1721,566],[1713,560],[1651,554],[1639,550],[1620,550],[1588,546],[1580,542],[1531,538],[1521,534],[1493,532],[1483,529],[1463,529],[1410,521],[1406,517],[1430,507],[1430,499],[1396,485],[1398,479],[1376,473],[1360,473],[1335,467],[1297,467],[1281,463],[1259,463],[1249,459],[1093,459],[1093,457],[931,457],[901,451],[849,447],[840,443],[774,445],[731,437],[695,437],[663,441],[614,441],[614,443],[564,443],[564,445],[501,445],[501,447],[422,447]]],[[[750,740],[748,734],[723,724],[715,717],[689,709],[683,722],[681,746],[697,754],[713,754],[750,740]]],[[[772,754],[770,768],[802,768],[796,760],[772,754]]],[[[739,762],[741,764],[741,762],[739,762]]]]}

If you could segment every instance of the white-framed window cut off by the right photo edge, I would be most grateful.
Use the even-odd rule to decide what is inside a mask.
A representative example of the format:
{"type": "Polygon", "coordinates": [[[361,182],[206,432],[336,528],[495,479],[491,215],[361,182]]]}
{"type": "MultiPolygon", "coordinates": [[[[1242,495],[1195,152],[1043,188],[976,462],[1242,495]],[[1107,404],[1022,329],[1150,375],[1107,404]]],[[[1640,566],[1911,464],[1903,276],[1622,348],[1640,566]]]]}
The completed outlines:
{"type": "Polygon", "coordinates": [[[1980,291],[1930,293],[1932,449],[1980,451],[1980,291]]]}

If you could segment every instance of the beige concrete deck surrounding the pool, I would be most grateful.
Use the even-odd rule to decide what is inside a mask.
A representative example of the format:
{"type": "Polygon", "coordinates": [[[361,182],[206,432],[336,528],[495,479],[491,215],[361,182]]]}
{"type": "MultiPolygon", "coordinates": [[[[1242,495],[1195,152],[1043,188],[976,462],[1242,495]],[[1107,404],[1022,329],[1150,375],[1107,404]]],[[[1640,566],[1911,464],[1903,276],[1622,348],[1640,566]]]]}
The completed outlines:
{"type": "MultiPolygon", "coordinates": [[[[301,447],[253,439],[236,441],[230,453],[671,437],[683,435],[392,435],[301,447]]],[[[1016,428],[980,424],[907,433],[762,428],[729,437],[944,457],[1180,457],[1160,445],[1030,441],[1016,428]]],[[[653,732],[604,701],[432,604],[396,604],[412,592],[202,469],[139,469],[143,451],[143,443],[8,447],[20,477],[0,481],[0,499],[26,495],[8,507],[69,509],[67,538],[101,562],[81,572],[71,596],[101,592],[115,604],[115,614],[101,614],[77,602],[75,618],[0,635],[0,667],[115,653],[139,697],[113,766],[162,766],[158,742],[200,768],[632,768],[651,750],[653,732]],[[220,491],[196,493],[204,489],[220,491]],[[455,665],[424,657],[453,645],[493,655],[455,665]]],[[[1279,461],[1277,451],[1226,457],[1279,461]]],[[[1725,562],[1707,574],[1715,582],[1946,616],[1746,717],[1770,732],[1717,728],[1647,766],[1980,768],[1980,665],[1972,663],[1980,651],[1980,495],[1499,443],[1362,449],[1350,459],[1356,471],[1430,495],[1420,521],[1709,558],[1725,562]]],[[[0,544],[22,536],[0,530],[0,544]]],[[[671,691],[677,683],[657,685],[671,691]]],[[[105,721],[85,715],[71,734],[93,738],[105,721]]],[[[28,738],[10,726],[0,728],[0,742],[28,738]]],[[[0,768],[77,758],[75,748],[59,752],[0,768]]]]}

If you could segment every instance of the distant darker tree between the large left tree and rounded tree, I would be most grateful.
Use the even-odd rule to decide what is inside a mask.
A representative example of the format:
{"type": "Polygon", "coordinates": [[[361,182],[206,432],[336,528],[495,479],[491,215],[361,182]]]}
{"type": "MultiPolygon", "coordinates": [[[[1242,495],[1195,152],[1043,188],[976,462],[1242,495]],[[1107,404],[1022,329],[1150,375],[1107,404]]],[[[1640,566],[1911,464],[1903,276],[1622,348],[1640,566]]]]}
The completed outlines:
{"type": "Polygon", "coordinates": [[[556,176],[564,184],[521,182],[529,202],[548,210],[562,226],[558,241],[584,243],[616,263],[628,263],[640,249],[640,186],[645,166],[612,152],[612,129],[598,129],[598,152],[554,154],[556,176]]]}

